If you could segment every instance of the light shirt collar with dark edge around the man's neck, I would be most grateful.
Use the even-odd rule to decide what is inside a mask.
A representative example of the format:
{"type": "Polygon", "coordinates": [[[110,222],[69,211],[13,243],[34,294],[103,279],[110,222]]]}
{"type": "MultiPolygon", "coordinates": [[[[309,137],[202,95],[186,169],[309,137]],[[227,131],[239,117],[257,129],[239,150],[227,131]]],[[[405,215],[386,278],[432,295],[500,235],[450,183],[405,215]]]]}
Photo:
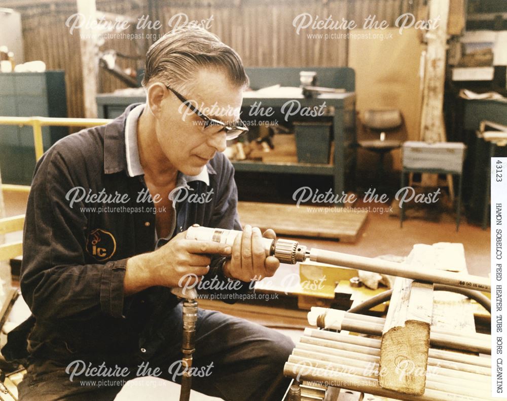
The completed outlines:
{"type": "MultiPolygon", "coordinates": [[[[136,177],[144,175],[141,162],[139,159],[139,148],[137,146],[137,120],[141,115],[146,104],[134,105],[133,108],[128,112],[125,119],[125,156],[126,156],[126,171],[129,177],[136,177]]],[[[132,106],[131,106],[132,107],[132,106]]],[[[205,169],[196,175],[188,176],[186,174],[178,172],[176,186],[185,185],[191,181],[203,181],[206,185],[209,185],[209,174],[216,174],[213,168],[206,164],[205,169]]],[[[108,171],[105,171],[108,173],[108,171]]]]}

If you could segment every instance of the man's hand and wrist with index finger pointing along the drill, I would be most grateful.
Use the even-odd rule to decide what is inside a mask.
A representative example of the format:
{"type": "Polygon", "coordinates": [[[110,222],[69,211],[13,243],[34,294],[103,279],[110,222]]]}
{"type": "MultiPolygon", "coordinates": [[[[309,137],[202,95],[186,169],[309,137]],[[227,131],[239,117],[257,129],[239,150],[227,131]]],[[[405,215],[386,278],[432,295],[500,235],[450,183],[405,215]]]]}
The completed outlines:
{"type": "Polygon", "coordinates": [[[132,256],[127,261],[125,295],[153,286],[192,286],[209,271],[210,255],[231,255],[229,245],[186,239],[181,232],[156,251],[132,256]],[[183,279],[183,280],[182,280],[183,279]]]}

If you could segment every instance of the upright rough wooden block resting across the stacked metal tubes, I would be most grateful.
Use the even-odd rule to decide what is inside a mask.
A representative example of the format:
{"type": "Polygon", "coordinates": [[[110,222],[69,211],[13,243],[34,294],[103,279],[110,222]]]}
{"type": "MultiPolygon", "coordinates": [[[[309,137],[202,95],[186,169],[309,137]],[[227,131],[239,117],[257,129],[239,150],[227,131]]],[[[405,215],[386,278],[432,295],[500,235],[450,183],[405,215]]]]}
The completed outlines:
{"type": "Polygon", "coordinates": [[[422,395],[426,385],[433,286],[397,278],[380,348],[379,385],[422,395]]]}

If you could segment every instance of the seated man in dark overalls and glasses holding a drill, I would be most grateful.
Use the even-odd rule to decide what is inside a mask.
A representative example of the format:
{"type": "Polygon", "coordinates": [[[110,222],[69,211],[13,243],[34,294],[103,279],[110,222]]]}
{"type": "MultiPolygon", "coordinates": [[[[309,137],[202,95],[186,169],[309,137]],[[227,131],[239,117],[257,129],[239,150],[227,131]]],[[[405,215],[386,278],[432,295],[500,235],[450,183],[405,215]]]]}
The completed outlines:
{"type": "MultiPolygon", "coordinates": [[[[274,274],[279,263],[265,256],[256,227],[232,247],[185,238],[192,224],[241,229],[234,170],[221,152],[246,130],[238,121],[247,81],[216,36],[174,31],[147,54],[146,104],[62,139],[38,163],[23,240],[32,316],[21,328],[29,330],[21,401],[114,399],[125,380],[146,374],[180,381],[182,308],[170,288],[210,280],[232,299],[216,283],[240,280],[244,293],[274,274]]],[[[194,389],[281,399],[291,340],[205,310],[196,330],[194,389]]]]}

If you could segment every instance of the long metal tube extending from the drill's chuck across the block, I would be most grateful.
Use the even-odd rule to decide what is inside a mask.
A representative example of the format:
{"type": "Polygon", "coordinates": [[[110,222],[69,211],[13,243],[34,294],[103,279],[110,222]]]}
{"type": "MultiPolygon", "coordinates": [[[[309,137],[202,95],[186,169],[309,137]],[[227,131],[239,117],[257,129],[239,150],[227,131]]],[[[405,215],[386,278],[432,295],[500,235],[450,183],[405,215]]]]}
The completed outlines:
{"type": "Polygon", "coordinates": [[[345,266],[359,270],[373,271],[375,273],[412,278],[427,283],[491,292],[491,283],[488,277],[437,269],[416,270],[403,263],[315,248],[310,250],[309,257],[310,260],[314,262],[329,263],[336,266],[345,266]]]}

